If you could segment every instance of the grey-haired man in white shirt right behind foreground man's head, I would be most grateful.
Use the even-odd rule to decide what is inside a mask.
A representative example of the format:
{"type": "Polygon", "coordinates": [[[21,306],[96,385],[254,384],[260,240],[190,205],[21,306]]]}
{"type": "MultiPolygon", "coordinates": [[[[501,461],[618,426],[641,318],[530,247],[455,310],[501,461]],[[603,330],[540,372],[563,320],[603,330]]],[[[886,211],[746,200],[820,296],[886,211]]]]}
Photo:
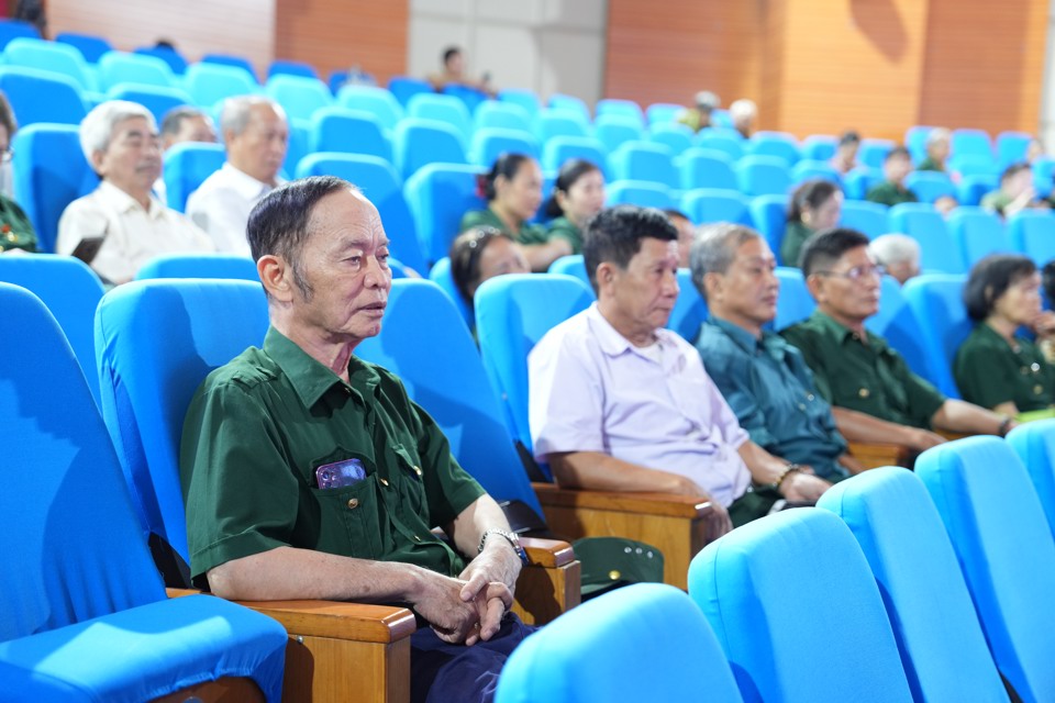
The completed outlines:
{"type": "Polygon", "coordinates": [[[220,113],[227,148],[223,167],[187,199],[187,215],[209,233],[216,249],[249,256],[245,225],[256,203],[282,182],[289,126],[286,112],[260,96],[229,98],[220,113]]]}

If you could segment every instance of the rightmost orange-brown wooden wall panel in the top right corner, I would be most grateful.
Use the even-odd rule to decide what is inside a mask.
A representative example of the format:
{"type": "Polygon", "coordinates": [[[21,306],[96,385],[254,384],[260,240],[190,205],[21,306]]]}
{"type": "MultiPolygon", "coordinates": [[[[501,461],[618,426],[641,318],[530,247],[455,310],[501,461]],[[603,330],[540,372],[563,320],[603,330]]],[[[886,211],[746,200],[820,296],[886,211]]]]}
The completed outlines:
{"type": "Polygon", "coordinates": [[[930,5],[920,124],[1036,132],[1047,2],[930,5]]]}

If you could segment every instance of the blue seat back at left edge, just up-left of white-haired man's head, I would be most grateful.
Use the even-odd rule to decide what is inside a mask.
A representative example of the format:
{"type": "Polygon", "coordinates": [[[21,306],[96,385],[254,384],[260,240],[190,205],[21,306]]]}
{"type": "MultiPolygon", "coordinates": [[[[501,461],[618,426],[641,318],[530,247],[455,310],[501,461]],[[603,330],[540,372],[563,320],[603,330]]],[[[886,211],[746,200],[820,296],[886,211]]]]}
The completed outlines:
{"type": "Polygon", "coordinates": [[[88,104],[73,78],[37,68],[0,66],[0,90],[20,127],[37,122],[80,124],[88,104]]]}

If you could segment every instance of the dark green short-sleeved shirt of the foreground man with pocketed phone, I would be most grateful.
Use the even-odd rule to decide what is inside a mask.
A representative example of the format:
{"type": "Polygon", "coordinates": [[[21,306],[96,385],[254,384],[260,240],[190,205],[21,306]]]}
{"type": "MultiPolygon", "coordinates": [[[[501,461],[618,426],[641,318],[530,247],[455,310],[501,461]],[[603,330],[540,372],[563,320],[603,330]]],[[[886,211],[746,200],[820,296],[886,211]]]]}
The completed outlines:
{"type": "Polygon", "coordinates": [[[465,561],[430,529],[484,494],[443,433],[385,369],[356,357],[349,382],[275,328],[191,400],[180,445],[196,583],[225,561],[291,546],[415,563],[465,561]],[[315,470],[359,459],[366,478],[321,489],[315,470]]]}

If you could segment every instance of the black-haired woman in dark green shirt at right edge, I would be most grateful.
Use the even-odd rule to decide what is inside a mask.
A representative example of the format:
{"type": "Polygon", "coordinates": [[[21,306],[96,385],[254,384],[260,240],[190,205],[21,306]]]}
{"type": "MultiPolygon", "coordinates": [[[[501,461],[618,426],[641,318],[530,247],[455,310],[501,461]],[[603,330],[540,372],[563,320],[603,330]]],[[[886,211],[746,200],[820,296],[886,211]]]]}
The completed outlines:
{"type": "Polygon", "coordinates": [[[975,265],[964,304],[975,330],[959,347],[953,376],[964,400],[1014,416],[1055,404],[1055,367],[1036,345],[1055,334],[1055,313],[1041,310],[1041,275],[1025,256],[995,254],[975,265]]]}

